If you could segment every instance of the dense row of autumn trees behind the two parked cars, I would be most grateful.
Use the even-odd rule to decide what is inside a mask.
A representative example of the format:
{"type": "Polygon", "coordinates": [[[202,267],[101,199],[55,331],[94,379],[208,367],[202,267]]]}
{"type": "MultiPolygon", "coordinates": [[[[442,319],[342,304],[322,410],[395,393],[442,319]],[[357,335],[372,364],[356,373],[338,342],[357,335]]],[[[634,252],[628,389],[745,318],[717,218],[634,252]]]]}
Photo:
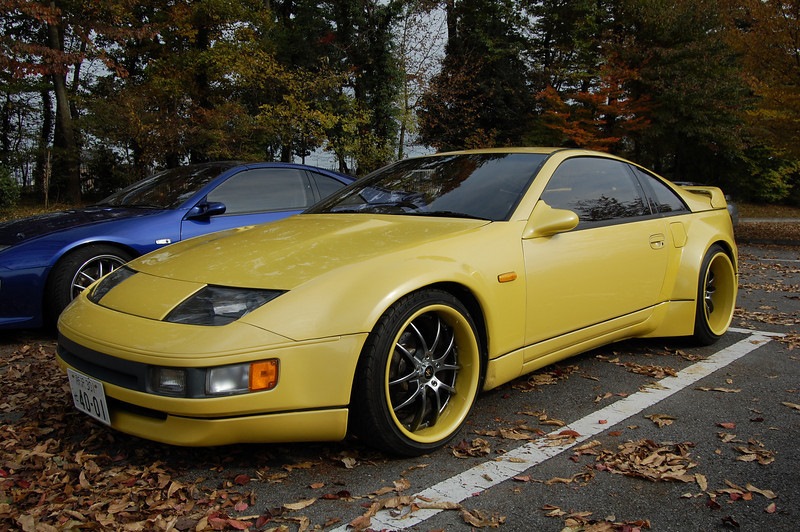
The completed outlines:
{"type": "Polygon", "coordinates": [[[0,102],[0,208],[533,145],[800,206],[800,0],[0,0],[0,102]]]}

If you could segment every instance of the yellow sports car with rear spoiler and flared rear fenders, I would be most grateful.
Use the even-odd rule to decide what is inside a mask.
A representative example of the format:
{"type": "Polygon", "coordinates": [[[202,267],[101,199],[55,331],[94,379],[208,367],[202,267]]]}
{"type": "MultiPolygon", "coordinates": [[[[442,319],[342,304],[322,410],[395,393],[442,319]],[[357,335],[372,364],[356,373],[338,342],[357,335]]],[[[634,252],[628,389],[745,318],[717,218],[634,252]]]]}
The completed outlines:
{"type": "Polygon", "coordinates": [[[727,330],[723,193],[623,159],[406,159],[303,214],[180,242],[59,321],[78,409],[176,445],[445,445],[481,390],[631,337],[727,330]]]}

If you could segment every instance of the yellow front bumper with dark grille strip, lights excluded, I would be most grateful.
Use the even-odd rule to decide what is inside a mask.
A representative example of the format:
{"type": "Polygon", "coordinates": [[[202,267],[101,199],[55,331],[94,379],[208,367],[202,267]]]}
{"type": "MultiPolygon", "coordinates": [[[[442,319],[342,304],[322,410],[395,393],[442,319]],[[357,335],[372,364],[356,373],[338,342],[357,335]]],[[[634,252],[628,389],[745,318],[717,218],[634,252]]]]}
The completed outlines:
{"type": "Polygon", "coordinates": [[[137,318],[83,298],[62,315],[59,333],[59,364],[103,383],[112,428],[183,446],[343,439],[366,340],[357,334],[292,342],[246,324],[137,318]],[[279,359],[280,378],[268,391],[168,397],[147,392],[142,377],[148,365],[207,368],[269,358],[279,359]]]}

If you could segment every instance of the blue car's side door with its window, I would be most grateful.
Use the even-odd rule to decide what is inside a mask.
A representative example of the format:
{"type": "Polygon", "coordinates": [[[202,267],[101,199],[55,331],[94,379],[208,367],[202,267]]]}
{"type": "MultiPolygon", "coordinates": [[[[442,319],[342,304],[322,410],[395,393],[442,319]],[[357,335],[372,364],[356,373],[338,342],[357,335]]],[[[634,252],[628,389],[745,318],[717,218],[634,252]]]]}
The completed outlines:
{"type": "Polygon", "coordinates": [[[206,199],[224,204],[225,212],[185,218],[181,238],[279,220],[303,211],[316,201],[317,195],[303,169],[253,168],[229,177],[206,199]]]}

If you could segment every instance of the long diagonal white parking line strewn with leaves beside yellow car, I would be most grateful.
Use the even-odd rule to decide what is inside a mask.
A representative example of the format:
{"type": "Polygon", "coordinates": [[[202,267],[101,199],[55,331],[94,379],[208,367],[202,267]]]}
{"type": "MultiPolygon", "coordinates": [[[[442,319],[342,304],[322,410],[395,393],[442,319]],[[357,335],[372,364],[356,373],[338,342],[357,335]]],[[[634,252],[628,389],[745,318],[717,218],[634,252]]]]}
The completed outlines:
{"type": "MultiPolygon", "coordinates": [[[[469,497],[481,493],[501,482],[509,480],[531,467],[541,464],[545,460],[561,454],[581,442],[592,438],[601,432],[610,430],[614,425],[627,418],[639,414],[659,401],[691,386],[700,379],[713,372],[724,368],[746,354],[769,343],[773,338],[781,337],[781,333],[751,331],[749,329],[730,329],[731,332],[743,333],[748,336],[737,343],[714,353],[710,357],[680,371],[675,377],[666,377],[658,384],[660,386],[648,388],[629,395],[614,404],[597,410],[588,416],[579,419],[565,427],[560,427],[550,434],[557,434],[564,430],[572,430],[580,434],[572,443],[550,447],[552,440],[543,437],[530,442],[513,451],[505,453],[496,460],[484,462],[454,477],[448,478],[416,494],[416,497],[433,502],[459,503],[469,497]],[[603,420],[604,423],[600,423],[603,420]]],[[[393,517],[388,511],[383,510],[372,517],[370,528],[375,530],[402,530],[416,526],[426,519],[433,517],[442,510],[419,509],[400,518],[393,517]]],[[[345,532],[347,525],[337,529],[345,532]]]]}

